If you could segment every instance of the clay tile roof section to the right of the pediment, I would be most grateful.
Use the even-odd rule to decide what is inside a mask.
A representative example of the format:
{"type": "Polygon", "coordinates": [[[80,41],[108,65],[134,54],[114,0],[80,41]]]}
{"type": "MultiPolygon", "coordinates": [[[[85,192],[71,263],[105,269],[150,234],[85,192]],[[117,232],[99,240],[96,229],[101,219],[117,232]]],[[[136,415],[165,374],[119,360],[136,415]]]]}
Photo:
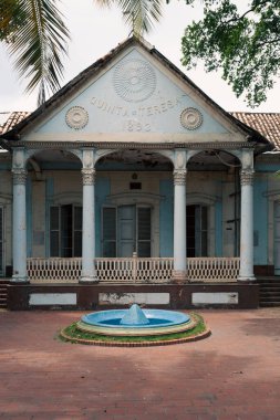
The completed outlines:
{"type": "Polygon", "coordinates": [[[280,149],[280,113],[230,113],[257,132],[261,133],[277,149],[280,149]]]}

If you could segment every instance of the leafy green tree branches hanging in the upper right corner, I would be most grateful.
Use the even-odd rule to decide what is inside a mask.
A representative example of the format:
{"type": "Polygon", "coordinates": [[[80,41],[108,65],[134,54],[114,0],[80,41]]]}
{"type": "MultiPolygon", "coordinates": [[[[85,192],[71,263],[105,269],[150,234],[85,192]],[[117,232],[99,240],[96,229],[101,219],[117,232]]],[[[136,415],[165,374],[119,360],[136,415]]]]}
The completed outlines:
{"type": "MultiPolygon", "coordinates": [[[[195,6],[197,0],[186,0],[195,6]]],[[[231,0],[205,0],[204,19],[182,40],[183,65],[199,60],[207,72],[222,70],[237,96],[255,107],[267,98],[280,69],[280,1],[248,0],[240,11],[231,0]]]]}

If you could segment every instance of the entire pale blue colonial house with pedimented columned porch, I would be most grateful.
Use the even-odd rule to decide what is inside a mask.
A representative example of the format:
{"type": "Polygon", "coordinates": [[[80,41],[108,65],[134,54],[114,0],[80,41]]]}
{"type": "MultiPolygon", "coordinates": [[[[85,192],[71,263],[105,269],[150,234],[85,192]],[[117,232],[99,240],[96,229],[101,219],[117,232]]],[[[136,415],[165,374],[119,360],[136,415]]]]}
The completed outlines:
{"type": "Polygon", "coordinates": [[[10,308],[256,307],[256,276],[277,281],[278,114],[225,112],[129,38],[2,117],[10,308]]]}

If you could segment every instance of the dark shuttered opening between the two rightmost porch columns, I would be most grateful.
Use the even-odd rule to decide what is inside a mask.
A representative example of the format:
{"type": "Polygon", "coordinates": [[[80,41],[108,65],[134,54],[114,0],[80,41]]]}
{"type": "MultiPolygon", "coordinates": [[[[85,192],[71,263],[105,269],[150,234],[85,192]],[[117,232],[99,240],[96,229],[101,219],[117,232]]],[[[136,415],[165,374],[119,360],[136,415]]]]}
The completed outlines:
{"type": "Polygon", "coordinates": [[[208,208],[187,206],[187,256],[208,255],[208,208]]]}

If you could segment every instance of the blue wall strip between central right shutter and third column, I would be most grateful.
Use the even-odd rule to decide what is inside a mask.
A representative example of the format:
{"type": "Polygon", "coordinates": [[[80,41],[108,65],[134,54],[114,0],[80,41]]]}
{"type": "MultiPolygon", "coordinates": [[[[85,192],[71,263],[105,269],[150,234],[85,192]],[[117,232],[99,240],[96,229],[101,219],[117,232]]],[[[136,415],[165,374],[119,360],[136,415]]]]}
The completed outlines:
{"type": "Polygon", "coordinates": [[[159,256],[173,256],[173,179],[160,180],[159,193],[159,256]]]}

